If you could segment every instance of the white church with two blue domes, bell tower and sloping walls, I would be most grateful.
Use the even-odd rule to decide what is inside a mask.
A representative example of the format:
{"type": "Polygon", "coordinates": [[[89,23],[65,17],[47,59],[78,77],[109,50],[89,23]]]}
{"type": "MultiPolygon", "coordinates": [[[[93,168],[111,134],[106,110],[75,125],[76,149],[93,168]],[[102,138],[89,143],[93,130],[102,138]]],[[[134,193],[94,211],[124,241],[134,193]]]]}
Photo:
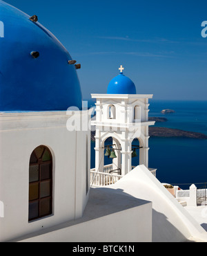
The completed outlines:
{"type": "Polygon", "coordinates": [[[91,131],[70,122],[90,116],[81,109],[80,65],[36,15],[1,0],[0,13],[0,241],[207,241],[148,167],[152,95],[137,94],[123,66],[106,94],[91,94],[91,169],[91,131]]]}

